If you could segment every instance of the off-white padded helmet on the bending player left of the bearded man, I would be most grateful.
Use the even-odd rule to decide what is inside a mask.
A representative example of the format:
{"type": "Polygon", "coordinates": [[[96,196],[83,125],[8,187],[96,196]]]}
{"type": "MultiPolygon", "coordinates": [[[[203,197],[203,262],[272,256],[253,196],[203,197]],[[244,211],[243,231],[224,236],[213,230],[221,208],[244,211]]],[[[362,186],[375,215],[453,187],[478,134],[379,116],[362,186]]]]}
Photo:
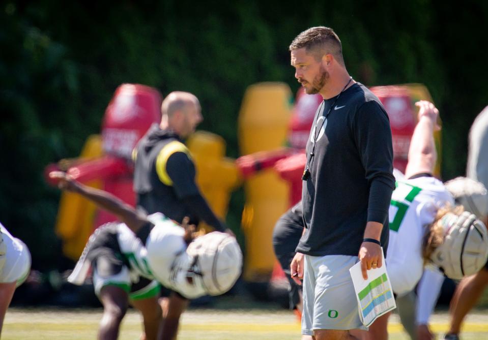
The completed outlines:
{"type": "Polygon", "coordinates": [[[195,285],[208,295],[220,295],[234,286],[242,269],[242,253],[235,237],[211,232],[197,237],[186,253],[193,258],[191,271],[195,285]]]}

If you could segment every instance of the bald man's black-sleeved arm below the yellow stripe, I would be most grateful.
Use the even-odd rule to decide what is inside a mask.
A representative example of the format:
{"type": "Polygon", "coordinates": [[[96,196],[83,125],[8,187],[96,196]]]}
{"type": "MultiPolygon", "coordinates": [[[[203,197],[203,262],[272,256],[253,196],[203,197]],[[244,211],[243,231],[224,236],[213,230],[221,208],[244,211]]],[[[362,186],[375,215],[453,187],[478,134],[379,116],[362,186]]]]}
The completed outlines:
{"type": "Polygon", "coordinates": [[[194,165],[184,152],[175,152],[167,159],[166,173],[171,179],[173,189],[188,209],[198,219],[204,221],[216,231],[225,231],[227,227],[220,221],[202,196],[195,183],[194,165]]]}

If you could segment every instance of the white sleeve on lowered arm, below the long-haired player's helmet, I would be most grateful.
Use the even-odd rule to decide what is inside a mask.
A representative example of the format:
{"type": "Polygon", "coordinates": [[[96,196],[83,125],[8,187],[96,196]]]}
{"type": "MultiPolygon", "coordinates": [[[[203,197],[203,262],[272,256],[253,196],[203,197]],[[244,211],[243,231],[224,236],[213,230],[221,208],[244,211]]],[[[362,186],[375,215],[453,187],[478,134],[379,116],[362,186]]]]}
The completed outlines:
{"type": "Polygon", "coordinates": [[[430,266],[425,267],[417,290],[417,324],[428,324],[428,319],[434,312],[443,282],[444,275],[439,270],[430,266]]]}

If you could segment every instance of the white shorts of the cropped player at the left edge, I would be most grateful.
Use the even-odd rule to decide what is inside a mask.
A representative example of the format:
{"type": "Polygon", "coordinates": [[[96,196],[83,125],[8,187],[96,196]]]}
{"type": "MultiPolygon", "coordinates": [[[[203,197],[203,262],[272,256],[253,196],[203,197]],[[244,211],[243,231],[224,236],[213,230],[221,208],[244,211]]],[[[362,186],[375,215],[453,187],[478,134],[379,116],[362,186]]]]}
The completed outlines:
{"type": "Polygon", "coordinates": [[[16,282],[18,287],[31,270],[31,253],[25,243],[10,235],[2,224],[0,231],[6,252],[3,268],[0,268],[0,283],[16,282]]]}

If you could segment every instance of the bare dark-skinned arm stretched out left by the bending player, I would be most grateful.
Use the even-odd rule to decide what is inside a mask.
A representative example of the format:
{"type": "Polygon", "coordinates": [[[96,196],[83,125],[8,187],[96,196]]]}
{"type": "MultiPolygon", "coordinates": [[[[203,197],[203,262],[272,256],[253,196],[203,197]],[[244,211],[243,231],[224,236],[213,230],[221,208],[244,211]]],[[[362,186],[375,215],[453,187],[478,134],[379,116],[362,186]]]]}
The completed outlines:
{"type": "Polygon", "coordinates": [[[117,215],[133,232],[137,232],[140,227],[148,223],[145,214],[136,211],[129,204],[106,191],[85,186],[61,171],[52,171],[49,173],[49,177],[59,180],[58,187],[61,190],[79,194],[99,207],[117,215]]]}

